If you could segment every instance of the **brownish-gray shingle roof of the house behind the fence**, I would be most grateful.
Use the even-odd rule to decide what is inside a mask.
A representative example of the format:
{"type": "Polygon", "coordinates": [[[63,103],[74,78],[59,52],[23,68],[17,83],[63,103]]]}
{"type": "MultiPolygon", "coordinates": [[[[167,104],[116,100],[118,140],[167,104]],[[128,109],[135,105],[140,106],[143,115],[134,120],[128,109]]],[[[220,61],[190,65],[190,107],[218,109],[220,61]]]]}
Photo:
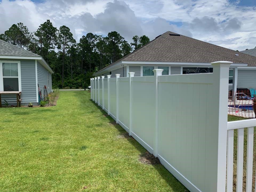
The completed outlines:
{"type": "MultiPolygon", "coordinates": [[[[231,61],[256,66],[256,57],[238,51],[213,45],[204,41],[186,37],[171,31],[160,35],[145,46],[133,51],[118,61],[162,61],[162,62],[195,62],[211,63],[215,61],[231,61]],[[235,55],[238,54],[239,56],[235,55]]],[[[103,68],[102,70],[106,69],[103,68]]],[[[101,70],[100,70],[101,71],[101,70]]]]}

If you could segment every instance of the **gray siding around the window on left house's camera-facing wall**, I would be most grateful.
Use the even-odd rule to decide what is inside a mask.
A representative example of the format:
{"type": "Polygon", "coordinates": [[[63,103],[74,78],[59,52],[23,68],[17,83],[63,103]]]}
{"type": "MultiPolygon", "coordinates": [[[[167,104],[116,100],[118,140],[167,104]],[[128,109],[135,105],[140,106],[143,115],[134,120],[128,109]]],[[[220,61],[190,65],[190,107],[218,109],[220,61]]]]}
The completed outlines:
{"type": "MultiPolygon", "coordinates": [[[[14,59],[7,59],[14,61],[14,59]]],[[[37,102],[37,92],[35,83],[35,60],[17,60],[21,62],[21,103],[37,102]]],[[[5,99],[10,105],[17,105],[16,95],[1,95],[2,102],[5,99]]]]}

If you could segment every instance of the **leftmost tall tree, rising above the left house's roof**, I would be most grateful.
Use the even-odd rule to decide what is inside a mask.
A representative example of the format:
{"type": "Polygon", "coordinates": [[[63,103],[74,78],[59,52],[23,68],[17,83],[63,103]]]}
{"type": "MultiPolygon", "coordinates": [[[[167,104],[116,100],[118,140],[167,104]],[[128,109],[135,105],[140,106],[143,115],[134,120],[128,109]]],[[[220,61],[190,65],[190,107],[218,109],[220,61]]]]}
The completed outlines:
{"type": "Polygon", "coordinates": [[[21,48],[28,48],[33,38],[33,34],[29,32],[27,26],[23,23],[13,24],[9,30],[0,35],[1,39],[21,48]]]}

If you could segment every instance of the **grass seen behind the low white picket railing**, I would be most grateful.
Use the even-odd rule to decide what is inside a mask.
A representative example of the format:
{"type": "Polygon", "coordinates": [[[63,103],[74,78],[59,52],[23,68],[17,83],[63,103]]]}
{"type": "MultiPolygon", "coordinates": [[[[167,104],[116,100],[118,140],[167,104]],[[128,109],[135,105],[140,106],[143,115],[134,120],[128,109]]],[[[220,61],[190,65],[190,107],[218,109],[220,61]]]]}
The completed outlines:
{"type": "MultiPolygon", "coordinates": [[[[246,118],[228,115],[228,121],[238,121],[246,118]]],[[[247,128],[244,129],[244,150],[243,150],[243,191],[246,191],[246,161],[247,161],[247,128]]],[[[253,139],[253,191],[255,189],[255,171],[256,171],[256,129],[254,127],[253,139]]],[[[237,175],[237,130],[234,130],[234,181],[233,191],[236,191],[237,175]]]]}

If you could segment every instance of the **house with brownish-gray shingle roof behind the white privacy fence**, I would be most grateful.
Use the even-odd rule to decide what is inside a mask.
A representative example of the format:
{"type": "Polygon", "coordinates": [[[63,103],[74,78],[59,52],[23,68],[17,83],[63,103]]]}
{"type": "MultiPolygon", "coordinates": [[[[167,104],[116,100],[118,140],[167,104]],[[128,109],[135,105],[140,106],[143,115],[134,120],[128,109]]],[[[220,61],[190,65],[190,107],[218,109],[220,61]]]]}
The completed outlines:
{"type": "Polygon", "coordinates": [[[162,75],[210,73],[213,72],[210,63],[215,61],[233,62],[229,70],[229,90],[256,89],[256,57],[171,31],[94,75],[128,77],[129,72],[135,72],[134,76],[149,76],[154,75],[153,69],[163,69],[162,75]]]}

